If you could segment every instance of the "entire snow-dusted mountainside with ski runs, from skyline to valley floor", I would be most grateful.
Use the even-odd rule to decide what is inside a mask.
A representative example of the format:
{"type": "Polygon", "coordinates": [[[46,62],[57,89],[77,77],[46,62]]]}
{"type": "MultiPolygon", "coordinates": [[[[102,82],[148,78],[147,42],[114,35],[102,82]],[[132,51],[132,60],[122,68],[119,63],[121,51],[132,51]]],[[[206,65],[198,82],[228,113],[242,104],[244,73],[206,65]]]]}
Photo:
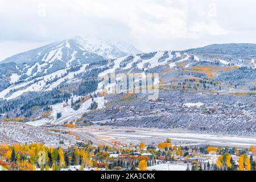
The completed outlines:
{"type": "Polygon", "coordinates": [[[142,53],[126,43],[69,38],[0,62],[0,119],[255,136],[255,48],[142,53]],[[130,76],[139,93],[127,93],[130,76]],[[155,100],[143,89],[150,84],[159,91],[155,100]]]}

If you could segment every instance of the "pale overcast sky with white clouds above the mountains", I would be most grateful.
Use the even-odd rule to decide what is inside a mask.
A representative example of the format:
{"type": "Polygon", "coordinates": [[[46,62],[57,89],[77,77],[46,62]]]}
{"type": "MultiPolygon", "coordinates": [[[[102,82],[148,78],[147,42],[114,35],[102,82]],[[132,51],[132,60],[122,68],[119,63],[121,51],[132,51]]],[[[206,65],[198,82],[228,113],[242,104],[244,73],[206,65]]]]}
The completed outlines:
{"type": "Polygon", "coordinates": [[[253,0],[0,0],[0,60],[72,36],[144,52],[256,43],[253,0]]]}

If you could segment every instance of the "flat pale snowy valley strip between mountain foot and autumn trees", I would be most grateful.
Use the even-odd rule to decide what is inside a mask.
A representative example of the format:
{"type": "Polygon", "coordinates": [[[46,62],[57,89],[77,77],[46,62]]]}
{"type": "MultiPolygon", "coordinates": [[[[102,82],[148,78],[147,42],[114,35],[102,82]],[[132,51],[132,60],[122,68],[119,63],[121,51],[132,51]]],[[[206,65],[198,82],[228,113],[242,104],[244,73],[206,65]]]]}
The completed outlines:
{"type": "Polygon", "coordinates": [[[231,135],[213,135],[192,133],[183,130],[167,130],[154,128],[137,128],[137,127],[111,127],[111,126],[88,126],[75,129],[67,129],[75,132],[81,140],[92,140],[94,144],[112,144],[118,142],[121,145],[139,144],[156,144],[171,138],[175,144],[181,146],[190,145],[213,145],[213,146],[229,146],[229,147],[245,147],[249,148],[256,144],[256,138],[239,137],[231,135]]]}

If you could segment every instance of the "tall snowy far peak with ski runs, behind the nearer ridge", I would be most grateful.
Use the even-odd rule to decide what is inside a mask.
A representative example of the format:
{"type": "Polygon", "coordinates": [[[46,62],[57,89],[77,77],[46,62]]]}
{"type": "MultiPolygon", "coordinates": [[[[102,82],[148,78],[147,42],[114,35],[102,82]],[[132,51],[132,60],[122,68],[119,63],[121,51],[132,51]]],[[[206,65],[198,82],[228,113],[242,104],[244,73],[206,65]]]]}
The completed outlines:
{"type": "MultiPolygon", "coordinates": [[[[94,36],[87,36],[85,39],[75,36],[19,53],[1,61],[0,67],[3,69],[0,71],[2,75],[0,78],[10,77],[10,82],[16,82],[30,77],[48,75],[76,65],[95,63],[105,59],[117,59],[140,52],[131,45],[125,46],[123,44],[122,49],[127,50],[127,52],[120,51],[113,44],[94,36]],[[125,47],[127,48],[125,49],[125,47]]],[[[2,87],[1,84],[0,87],[2,87]]]]}

